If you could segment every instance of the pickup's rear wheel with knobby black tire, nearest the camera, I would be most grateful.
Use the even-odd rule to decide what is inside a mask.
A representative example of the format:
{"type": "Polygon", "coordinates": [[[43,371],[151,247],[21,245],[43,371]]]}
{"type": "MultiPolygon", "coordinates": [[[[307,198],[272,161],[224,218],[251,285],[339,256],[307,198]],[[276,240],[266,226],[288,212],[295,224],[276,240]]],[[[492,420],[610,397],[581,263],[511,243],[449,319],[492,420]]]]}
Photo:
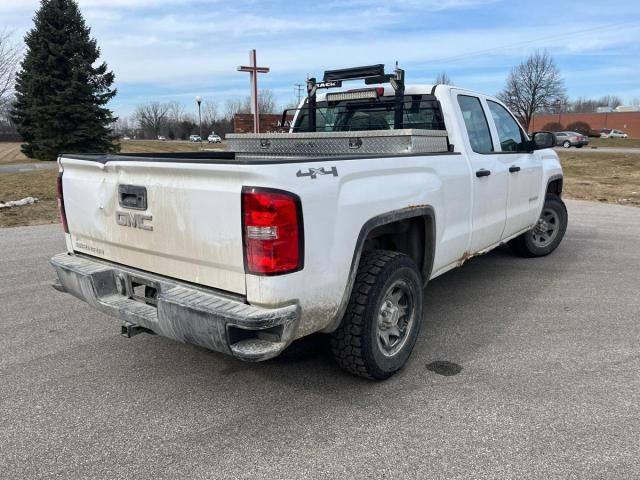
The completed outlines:
{"type": "Polygon", "coordinates": [[[400,370],[420,331],[422,290],[418,268],[408,256],[385,250],[364,253],[342,323],[331,334],[331,351],[338,365],[374,380],[400,370]],[[395,344],[392,337],[396,337],[395,344]]]}

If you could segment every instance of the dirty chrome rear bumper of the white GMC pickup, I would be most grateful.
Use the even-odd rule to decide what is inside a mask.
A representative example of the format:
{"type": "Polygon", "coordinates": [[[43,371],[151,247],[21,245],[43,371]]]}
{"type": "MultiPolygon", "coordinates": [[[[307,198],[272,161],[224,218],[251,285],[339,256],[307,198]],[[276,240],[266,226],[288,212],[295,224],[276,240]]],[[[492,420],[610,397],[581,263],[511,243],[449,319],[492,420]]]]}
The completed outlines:
{"type": "Polygon", "coordinates": [[[58,275],[57,290],[127,324],[242,360],[277,356],[292,341],[299,318],[298,305],[256,307],[237,297],[84,256],[61,253],[51,264],[58,275]],[[156,305],[136,296],[132,285],[155,289],[156,305]]]}

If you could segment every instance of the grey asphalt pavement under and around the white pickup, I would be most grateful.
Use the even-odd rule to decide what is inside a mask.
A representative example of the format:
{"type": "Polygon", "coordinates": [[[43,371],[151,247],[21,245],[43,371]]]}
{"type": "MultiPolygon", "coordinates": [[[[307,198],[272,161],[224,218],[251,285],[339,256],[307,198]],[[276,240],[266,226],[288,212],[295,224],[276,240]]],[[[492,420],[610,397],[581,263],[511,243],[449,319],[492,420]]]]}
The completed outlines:
{"type": "Polygon", "coordinates": [[[558,250],[431,282],[410,363],[242,363],[54,291],[60,227],[0,229],[0,477],[640,477],[640,209],[568,202],[558,250]],[[443,376],[435,361],[461,367],[443,376]]]}

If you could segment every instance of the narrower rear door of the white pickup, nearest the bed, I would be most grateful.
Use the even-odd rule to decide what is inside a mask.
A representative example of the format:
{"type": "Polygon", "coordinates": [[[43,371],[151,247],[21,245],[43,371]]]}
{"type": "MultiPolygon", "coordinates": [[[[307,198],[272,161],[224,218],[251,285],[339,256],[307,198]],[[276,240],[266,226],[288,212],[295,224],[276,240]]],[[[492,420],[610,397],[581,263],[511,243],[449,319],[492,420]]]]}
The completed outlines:
{"type": "Polygon", "coordinates": [[[475,253],[500,241],[506,219],[508,173],[495,151],[481,98],[466,93],[454,95],[459,106],[459,123],[466,129],[466,150],[471,163],[469,253],[475,253]]]}

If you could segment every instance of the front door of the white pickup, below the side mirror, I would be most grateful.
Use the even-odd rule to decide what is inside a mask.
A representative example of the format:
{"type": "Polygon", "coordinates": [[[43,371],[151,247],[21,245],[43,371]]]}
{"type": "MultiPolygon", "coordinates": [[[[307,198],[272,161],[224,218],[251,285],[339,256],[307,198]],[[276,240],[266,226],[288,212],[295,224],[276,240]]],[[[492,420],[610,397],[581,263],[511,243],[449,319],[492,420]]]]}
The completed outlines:
{"type": "Polygon", "coordinates": [[[507,220],[503,238],[528,230],[538,219],[542,182],[542,160],[532,152],[524,151],[528,140],[511,113],[493,100],[487,100],[489,120],[495,125],[497,148],[508,174],[507,220]]]}

